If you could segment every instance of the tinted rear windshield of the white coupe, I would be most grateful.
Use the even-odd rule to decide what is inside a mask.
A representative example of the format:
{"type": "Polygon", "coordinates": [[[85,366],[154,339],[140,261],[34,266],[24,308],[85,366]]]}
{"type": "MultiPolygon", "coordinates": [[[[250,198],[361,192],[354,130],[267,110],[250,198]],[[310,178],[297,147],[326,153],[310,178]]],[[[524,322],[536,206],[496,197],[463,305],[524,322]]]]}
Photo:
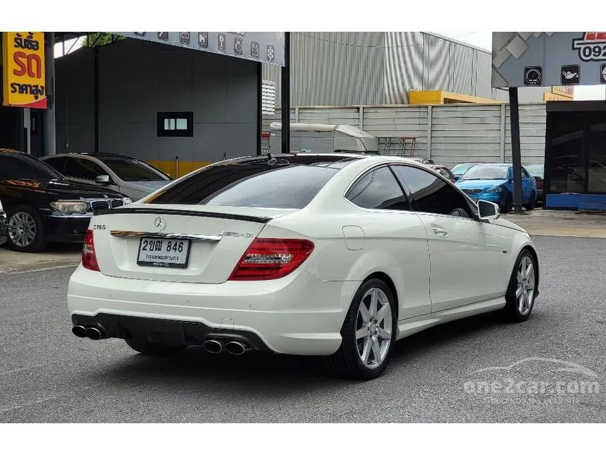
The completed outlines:
{"type": "Polygon", "coordinates": [[[342,166],[267,160],[207,166],[147,203],[302,209],[342,166]]]}

